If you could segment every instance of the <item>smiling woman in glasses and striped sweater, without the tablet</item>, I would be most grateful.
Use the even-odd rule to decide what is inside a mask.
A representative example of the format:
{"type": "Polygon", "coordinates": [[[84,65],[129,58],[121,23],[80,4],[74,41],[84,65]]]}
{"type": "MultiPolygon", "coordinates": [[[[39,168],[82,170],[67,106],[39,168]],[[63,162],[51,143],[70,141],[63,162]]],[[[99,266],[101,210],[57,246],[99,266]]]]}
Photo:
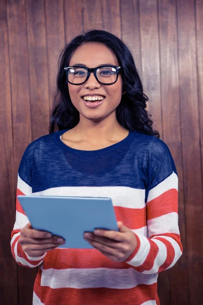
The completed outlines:
{"type": "Polygon", "coordinates": [[[159,304],[158,272],[182,254],[178,176],[132,55],[89,31],[62,51],[57,85],[50,134],[26,148],[17,195],[110,197],[119,232],[84,234],[94,249],[60,249],[64,240],[32,229],[17,200],[13,256],[42,264],[33,304],[159,304]]]}

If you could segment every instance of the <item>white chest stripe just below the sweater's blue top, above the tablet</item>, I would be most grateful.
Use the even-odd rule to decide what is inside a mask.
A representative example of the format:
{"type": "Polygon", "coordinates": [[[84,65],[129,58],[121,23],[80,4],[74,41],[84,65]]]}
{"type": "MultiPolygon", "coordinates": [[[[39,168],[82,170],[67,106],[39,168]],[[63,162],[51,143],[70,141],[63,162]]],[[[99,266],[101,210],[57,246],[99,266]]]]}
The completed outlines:
{"type": "Polygon", "coordinates": [[[59,187],[36,192],[32,195],[108,197],[112,199],[114,206],[128,208],[143,208],[146,206],[145,190],[128,187],[59,187]]]}

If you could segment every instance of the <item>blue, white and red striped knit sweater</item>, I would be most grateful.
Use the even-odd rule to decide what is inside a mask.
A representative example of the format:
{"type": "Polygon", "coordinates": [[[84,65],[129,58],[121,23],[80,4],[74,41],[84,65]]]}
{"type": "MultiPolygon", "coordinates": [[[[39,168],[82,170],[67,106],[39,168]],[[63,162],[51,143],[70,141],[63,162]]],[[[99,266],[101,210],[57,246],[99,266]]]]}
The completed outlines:
{"type": "Polygon", "coordinates": [[[12,254],[21,266],[41,265],[33,304],[159,304],[158,272],[182,254],[178,176],[170,151],[160,139],[137,131],[103,149],[78,150],[61,141],[65,131],[28,145],[17,195],[110,197],[117,221],[136,234],[138,245],[122,263],[96,249],[57,248],[29,257],[18,242],[28,219],[17,200],[12,254]]]}

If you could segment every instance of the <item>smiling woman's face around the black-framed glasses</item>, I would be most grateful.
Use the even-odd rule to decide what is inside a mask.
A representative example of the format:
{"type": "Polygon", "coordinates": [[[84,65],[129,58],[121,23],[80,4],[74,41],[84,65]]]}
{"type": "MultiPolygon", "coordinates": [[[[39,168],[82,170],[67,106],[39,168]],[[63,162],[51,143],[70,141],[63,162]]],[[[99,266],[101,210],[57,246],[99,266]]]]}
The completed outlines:
{"type": "MultiPolygon", "coordinates": [[[[86,43],[74,52],[69,66],[75,65],[95,68],[101,65],[119,66],[118,60],[108,47],[104,44],[86,43]]],[[[122,97],[122,78],[119,74],[117,82],[111,85],[100,84],[93,73],[88,80],[81,85],[68,83],[71,101],[80,113],[80,119],[86,118],[93,121],[102,120],[110,115],[115,115],[116,108],[122,97]],[[102,102],[93,103],[83,99],[88,96],[97,96],[97,99],[104,97],[102,102]],[[100,96],[100,97],[99,97],[100,96]],[[96,107],[94,105],[100,104],[96,107]],[[93,106],[93,107],[92,107],[93,106]]]]}

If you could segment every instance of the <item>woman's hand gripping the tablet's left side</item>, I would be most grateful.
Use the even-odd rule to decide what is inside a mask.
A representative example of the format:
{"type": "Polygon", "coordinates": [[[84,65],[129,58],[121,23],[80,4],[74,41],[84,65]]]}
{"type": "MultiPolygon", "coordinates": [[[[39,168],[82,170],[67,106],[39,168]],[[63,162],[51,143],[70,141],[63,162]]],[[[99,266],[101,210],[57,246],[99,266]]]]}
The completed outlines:
{"type": "Polygon", "coordinates": [[[20,231],[19,243],[28,256],[38,257],[64,245],[65,240],[59,236],[53,236],[51,233],[35,230],[28,223],[20,231]]]}

